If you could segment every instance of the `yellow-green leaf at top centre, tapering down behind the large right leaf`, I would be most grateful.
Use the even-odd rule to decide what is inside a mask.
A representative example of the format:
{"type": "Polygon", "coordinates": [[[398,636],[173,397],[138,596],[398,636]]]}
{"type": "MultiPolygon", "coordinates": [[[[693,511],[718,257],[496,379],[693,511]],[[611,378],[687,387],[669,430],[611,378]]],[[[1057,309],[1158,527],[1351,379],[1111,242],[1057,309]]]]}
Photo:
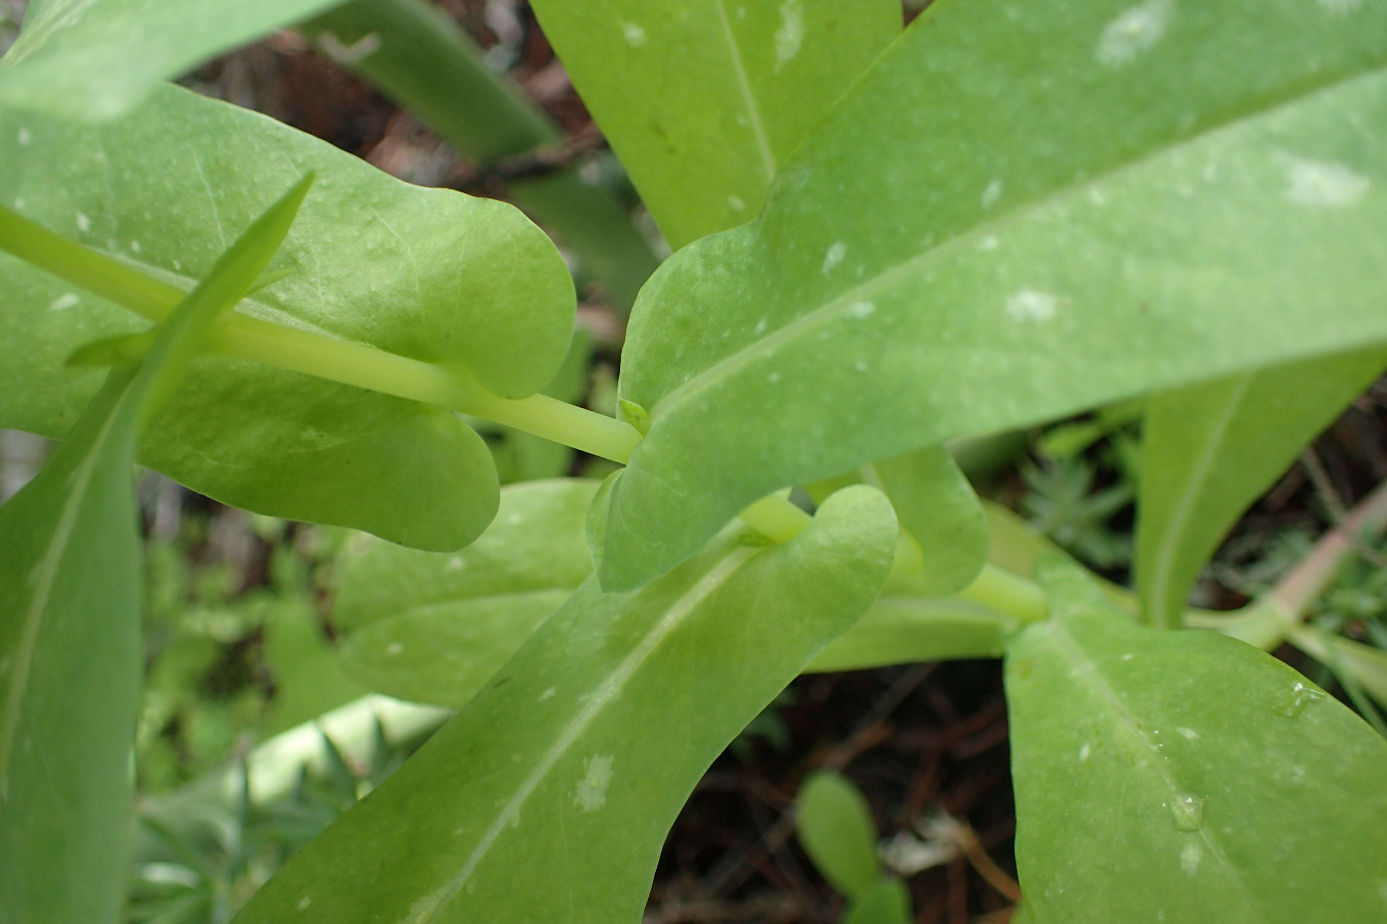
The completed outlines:
{"type": "Polygon", "coordinates": [[[900,32],[893,0],[533,6],[675,249],[756,217],[779,166],[900,32]]]}

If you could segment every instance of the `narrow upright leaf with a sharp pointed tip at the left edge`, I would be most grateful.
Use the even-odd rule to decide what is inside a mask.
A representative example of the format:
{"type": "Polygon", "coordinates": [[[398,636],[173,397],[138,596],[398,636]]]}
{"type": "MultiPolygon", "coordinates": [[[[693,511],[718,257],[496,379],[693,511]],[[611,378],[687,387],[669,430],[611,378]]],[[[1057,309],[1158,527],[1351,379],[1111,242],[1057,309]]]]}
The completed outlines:
{"type": "Polygon", "coordinates": [[[141,675],[137,432],[265,269],[307,191],[300,183],[236,241],[147,360],[112,371],[0,507],[0,920],[117,920],[141,675]]]}

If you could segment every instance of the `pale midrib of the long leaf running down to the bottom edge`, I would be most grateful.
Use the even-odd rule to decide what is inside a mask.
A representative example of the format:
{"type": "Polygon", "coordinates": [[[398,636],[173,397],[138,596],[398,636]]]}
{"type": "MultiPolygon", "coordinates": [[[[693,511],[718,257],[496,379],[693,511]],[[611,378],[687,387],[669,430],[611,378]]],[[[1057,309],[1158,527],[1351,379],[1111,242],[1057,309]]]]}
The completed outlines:
{"type": "Polygon", "coordinates": [[[669,605],[660,621],[645,634],[644,639],[641,639],[641,643],[621,659],[606,680],[588,694],[588,700],[583,709],[580,709],[567,726],[565,726],[555,744],[544,754],[524,781],[522,781],[510,801],[508,801],[501,812],[497,813],[495,820],[487,828],[485,834],[481,835],[481,839],[473,848],[472,853],[467,855],[467,859],[463,862],[458,874],[411,909],[412,913],[406,918],[408,924],[427,924],[429,921],[438,918],[442,909],[452,900],[454,896],[458,895],[458,892],[462,891],[467,880],[476,871],[477,866],[480,866],[481,860],[485,859],[487,853],[491,851],[491,846],[510,826],[510,820],[517,816],[526,801],[549,774],[549,770],[552,770],[569,748],[577,743],[578,737],[589,725],[592,725],[598,713],[601,713],[603,708],[620,695],[626,683],[635,675],[641,665],[645,664],[652,654],[655,654],[660,643],[663,643],[670,633],[673,633],[684,622],[684,619],[698,608],[699,604],[716,593],[742,568],[742,565],[750,561],[760,551],[764,551],[764,549],[748,546],[735,549],[725,558],[713,565],[713,568],[710,568],[707,574],[705,574],[692,587],[680,594],[680,597],[669,605]]]}

